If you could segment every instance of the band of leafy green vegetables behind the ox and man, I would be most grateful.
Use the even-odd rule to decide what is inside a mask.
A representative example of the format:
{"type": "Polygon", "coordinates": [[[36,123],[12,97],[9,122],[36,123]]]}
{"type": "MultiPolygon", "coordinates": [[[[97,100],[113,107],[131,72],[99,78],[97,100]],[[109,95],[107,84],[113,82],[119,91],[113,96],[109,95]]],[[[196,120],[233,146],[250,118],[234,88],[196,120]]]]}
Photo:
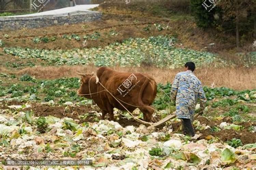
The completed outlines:
{"type": "MultiPolygon", "coordinates": [[[[17,79],[14,74],[4,74],[1,73],[0,77],[6,77],[11,79],[17,79]]],[[[45,94],[46,97],[44,101],[53,100],[54,98],[67,97],[66,100],[79,101],[81,98],[76,95],[75,89],[78,89],[80,86],[79,78],[61,78],[56,80],[37,80],[34,77],[31,77],[28,74],[23,74],[20,78],[20,81],[23,82],[32,82],[32,85],[22,85],[22,84],[12,84],[10,86],[1,86],[2,81],[0,81],[0,96],[11,95],[10,97],[20,97],[28,93],[33,95],[34,99],[38,99],[35,95],[45,94]]],[[[225,105],[234,105],[241,101],[254,101],[256,99],[256,90],[242,90],[237,91],[227,87],[203,87],[205,95],[208,101],[216,97],[232,97],[236,96],[234,99],[224,99],[223,101],[218,101],[213,104],[213,107],[225,106],[225,105]]],[[[166,94],[170,94],[171,84],[167,83],[165,85],[158,84],[158,94],[160,98],[156,98],[155,103],[157,104],[158,109],[165,109],[170,103],[170,99],[166,94]],[[164,92],[163,92],[163,91],[164,92]]],[[[66,100],[62,99],[62,102],[66,100]]]]}

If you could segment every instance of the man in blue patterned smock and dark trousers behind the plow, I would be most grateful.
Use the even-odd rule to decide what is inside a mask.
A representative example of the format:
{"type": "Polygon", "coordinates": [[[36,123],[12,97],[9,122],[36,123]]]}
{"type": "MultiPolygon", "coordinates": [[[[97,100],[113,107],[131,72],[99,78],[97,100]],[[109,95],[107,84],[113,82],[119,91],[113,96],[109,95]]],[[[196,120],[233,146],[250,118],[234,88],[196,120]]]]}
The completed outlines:
{"type": "Polygon", "coordinates": [[[195,68],[193,62],[187,62],[186,71],[176,74],[171,89],[171,99],[176,101],[177,118],[182,120],[183,132],[185,131],[190,136],[195,136],[192,122],[197,99],[200,100],[201,109],[204,109],[207,101],[202,84],[193,73],[195,68]]]}

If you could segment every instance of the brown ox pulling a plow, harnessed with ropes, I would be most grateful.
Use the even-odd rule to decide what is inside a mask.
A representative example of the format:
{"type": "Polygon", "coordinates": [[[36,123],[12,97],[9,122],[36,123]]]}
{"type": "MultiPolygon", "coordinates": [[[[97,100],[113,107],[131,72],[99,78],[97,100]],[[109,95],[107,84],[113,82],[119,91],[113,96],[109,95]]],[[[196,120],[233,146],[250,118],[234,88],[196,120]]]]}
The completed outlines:
{"type": "Polygon", "coordinates": [[[154,109],[150,105],[156,97],[157,85],[149,75],[117,72],[107,67],[100,67],[96,77],[94,74],[78,74],[82,79],[77,93],[94,100],[102,110],[102,119],[109,113],[110,120],[114,120],[113,108],[124,111],[126,107],[131,113],[139,108],[144,120],[151,121],[154,109]]]}

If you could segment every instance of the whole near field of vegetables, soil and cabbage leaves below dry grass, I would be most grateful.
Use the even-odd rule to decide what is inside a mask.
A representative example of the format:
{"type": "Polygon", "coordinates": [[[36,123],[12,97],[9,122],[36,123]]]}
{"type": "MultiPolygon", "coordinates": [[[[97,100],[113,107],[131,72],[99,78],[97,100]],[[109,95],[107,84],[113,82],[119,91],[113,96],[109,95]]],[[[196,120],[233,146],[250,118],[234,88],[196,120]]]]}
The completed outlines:
{"type": "MultiPolygon", "coordinates": [[[[204,87],[209,112],[194,121],[197,138],[192,139],[181,134],[178,119],[152,129],[115,110],[116,121],[99,120],[99,108],[76,95],[77,78],[1,76],[16,80],[0,85],[2,164],[5,159],[90,159],[91,166],[68,168],[111,170],[236,169],[255,164],[256,91],[204,87]]],[[[171,84],[158,85],[154,121],[175,110],[160,88],[168,94],[171,84]]],[[[143,117],[137,110],[134,114],[143,117]]]]}

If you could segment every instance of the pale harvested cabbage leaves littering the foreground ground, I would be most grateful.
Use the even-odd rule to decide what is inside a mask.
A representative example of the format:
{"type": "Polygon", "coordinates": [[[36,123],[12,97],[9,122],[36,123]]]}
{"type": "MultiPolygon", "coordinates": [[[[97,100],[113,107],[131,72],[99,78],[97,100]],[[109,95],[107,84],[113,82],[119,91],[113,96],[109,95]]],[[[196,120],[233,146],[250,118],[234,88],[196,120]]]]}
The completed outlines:
{"type": "MultiPolygon", "coordinates": [[[[255,143],[242,146],[237,139],[228,143],[205,139],[193,142],[188,136],[173,133],[171,126],[159,131],[144,125],[123,127],[108,120],[78,123],[67,117],[37,117],[24,111],[29,108],[28,102],[0,109],[2,164],[6,159],[76,158],[92,160],[92,165],[84,167],[87,169],[250,169],[256,160],[255,143]]],[[[194,125],[209,128],[199,121],[194,125]]],[[[216,128],[229,126],[221,123],[216,128]]]]}

